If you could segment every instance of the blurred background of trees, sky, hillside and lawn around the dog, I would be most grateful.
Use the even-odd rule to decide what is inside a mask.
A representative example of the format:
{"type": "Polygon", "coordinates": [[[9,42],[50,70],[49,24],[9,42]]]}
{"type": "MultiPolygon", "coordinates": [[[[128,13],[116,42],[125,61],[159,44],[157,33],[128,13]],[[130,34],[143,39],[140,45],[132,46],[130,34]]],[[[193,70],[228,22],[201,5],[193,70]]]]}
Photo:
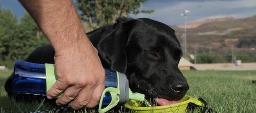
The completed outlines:
{"type": "MultiPolygon", "coordinates": [[[[169,25],[181,43],[179,68],[190,87],[187,95],[205,99],[217,112],[255,112],[255,0],[73,2],[86,32],[112,24],[120,16],[151,18],[169,25]]],[[[0,113],[53,108],[40,101],[15,102],[4,89],[14,61],[24,60],[46,44],[48,40],[17,0],[0,0],[0,113]]]]}

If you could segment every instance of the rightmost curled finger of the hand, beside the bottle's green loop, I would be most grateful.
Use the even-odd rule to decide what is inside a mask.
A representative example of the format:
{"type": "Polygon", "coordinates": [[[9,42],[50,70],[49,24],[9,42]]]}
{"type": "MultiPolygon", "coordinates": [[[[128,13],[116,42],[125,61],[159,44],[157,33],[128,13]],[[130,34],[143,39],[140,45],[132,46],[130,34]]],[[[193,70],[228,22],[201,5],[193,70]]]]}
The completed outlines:
{"type": "Polygon", "coordinates": [[[88,108],[93,108],[95,107],[99,101],[100,97],[102,95],[103,90],[105,89],[104,82],[102,84],[99,84],[93,91],[92,97],[90,102],[86,105],[88,108]]]}

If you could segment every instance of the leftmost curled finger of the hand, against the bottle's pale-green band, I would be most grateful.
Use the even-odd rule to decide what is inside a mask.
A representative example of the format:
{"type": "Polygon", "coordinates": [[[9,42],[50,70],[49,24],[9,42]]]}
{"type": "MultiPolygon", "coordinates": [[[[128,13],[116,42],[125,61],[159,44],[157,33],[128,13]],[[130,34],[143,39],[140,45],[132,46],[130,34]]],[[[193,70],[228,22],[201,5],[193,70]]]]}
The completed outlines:
{"type": "Polygon", "coordinates": [[[66,88],[68,88],[68,84],[57,80],[50,90],[47,92],[47,98],[52,99],[56,97],[58,94],[62,93],[66,88]]]}

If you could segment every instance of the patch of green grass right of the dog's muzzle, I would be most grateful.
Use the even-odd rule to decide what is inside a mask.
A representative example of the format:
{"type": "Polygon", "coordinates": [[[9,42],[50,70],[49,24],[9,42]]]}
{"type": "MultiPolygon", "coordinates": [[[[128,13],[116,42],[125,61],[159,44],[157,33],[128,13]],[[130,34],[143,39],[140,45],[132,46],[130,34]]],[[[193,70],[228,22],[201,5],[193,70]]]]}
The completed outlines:
{"type": "Polygon", "coordinates": [[[218,112],[255,112],[256,71],[183,71],[187,95],[205,99],[218,112]]]}

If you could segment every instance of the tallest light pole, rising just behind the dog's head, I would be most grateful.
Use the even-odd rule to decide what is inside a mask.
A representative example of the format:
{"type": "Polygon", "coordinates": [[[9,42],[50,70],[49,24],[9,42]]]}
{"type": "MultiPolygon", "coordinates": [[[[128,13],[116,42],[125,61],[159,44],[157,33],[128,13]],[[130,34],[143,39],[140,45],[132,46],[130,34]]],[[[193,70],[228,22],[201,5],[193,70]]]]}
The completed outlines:
{"type": "Polygon", "coordinates": [[[185,27],[184,27],[184,37],[183,37],[183,52],[187,52],[187,14],[190,13],[189,10],[182,10],[181,11],[181,16],[185,17],[185,27]]]}

